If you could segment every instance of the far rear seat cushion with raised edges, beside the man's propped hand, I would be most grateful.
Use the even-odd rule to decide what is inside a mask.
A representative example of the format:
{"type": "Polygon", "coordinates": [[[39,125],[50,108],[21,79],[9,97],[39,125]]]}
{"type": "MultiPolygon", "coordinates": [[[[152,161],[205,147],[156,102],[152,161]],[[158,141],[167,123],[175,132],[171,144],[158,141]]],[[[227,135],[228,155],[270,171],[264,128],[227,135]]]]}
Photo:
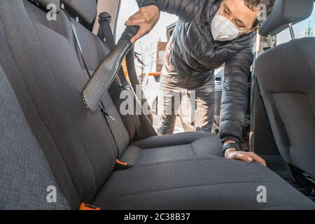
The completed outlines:
{"type": "Polygon", "coordinates": [[[186,132],[135,141],[127,147],[120,160],[139,164],[207,155],[223,157],[218,136],[203,132],[186,132]]]}

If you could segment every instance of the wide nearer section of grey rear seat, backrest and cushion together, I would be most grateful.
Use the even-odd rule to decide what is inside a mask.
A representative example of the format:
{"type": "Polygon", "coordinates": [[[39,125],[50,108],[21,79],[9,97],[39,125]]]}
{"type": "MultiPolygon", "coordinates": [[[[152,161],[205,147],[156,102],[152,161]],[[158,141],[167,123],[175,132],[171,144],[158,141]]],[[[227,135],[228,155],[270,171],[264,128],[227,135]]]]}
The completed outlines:
{"type": "MultiPolygon", "coordinates": [[[[38,3],[44,8],[47,3],[59,6],[57,0],[38,3]]],[[[80,202],[101,209],[315,209],[311,200],[286,181],[254,163],[204,155],[144,160],[130,169],[115,171],[118,151],[109,126],[100,112],[88,113],[81,102],[80,90],[86,78],[71,40],[69,20],[62,10],[57,21],[48,21],[46,13],[27,0],[0,1],[0,64],[23,114],[13,110],[20,119],[25,116],[71,209],[78,209],[80,202]],[[267,188],[267,203],[257,202],[258,186],[267,188]]],[[[8,82],[5,85],[10,88],[8,82]]],[[[0,97],[2,102],[5,94],[0,97]]],[[[17,103],[10,100],[13,105],[17,103]]],[[[3,119],[9,118],[10,113],[5,113],[3,119]]],[[[6,126],[1,125],[1,131],[6,126]]],[[[22,133],[29,130],[26,125],[21,128],[22,133]]],[[[24,140],[18,130],[10,132],[24,140]]],[[[172,144],[175,141],[171,136],[163,138],[169,138],[172,144]]],[[[31,161],[27,158],[30,151],[22,147],[27,141],[15,141],[18,139],[1,138],[1,155],[16,147],[16,151],[26,153],[25,161],[31,161]],[[2,144],[4,141],[6,144],[2,144]]],[[[133,144],[145,148],[153,141],[154,147],[162,145],[155,137],[133,144]]],[[[37,150],[33,154],[40,153],[37,150]]],[[[31,166],[17,169],[23,168],[23,163],[14,159],[0,158],[1,170],[12,167],[10,171],[17,171],[1,173],[0,202],[6,208],[8,204],[13,204],[11,208],[29,208],[27,202],[34,200],[25,198],[23,191],[14,191],[15,198],[22,199],[20,207],[15,207],[17,201],[14,204],[12,198],[4,197],[4,192],[14,190],[9,186],[32,184],[34,191],[41,191],[55,183],[51,175],[47,183],[42,183],[43,188],[38,188],[41,183],[28,183],[28,178],[20,180],[23,172],[33,170],[40,175],[41,170],[31,166]]],[[[66,209],[62,195],[57,200],[61,204],[54,208],[45,204],[45,195],[38,193],[38,202],[31,208],[66,209]]]]}

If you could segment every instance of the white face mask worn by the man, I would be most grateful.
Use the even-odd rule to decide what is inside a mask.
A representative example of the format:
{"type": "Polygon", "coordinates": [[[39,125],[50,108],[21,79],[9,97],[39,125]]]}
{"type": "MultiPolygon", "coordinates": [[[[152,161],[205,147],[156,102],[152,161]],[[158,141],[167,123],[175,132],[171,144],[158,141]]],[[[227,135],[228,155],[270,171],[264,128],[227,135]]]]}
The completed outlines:
{"type": "Polygon", "coordinates": [[[231,20],[219,13],[216,13],[211,22],[211,31],[214,41],[232,41],[241,34],[231,20]]]}

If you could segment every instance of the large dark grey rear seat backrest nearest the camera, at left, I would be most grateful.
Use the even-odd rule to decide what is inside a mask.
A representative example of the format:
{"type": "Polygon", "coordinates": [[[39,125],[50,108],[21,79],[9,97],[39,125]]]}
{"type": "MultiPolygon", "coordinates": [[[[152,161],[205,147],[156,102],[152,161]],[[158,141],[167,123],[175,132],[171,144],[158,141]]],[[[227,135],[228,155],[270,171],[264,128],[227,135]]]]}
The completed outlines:
{"type": "Polygon", "coordinates": [[[68,18],[59,10],[49,21],[44,3],[56,0],[40,2],[41,8],[27,0],[0,1],[0,64],[75,209],[91,202],[111,175],[118,148],[101,111],[88,113],[81,100],[87,78],[68,18]]]}

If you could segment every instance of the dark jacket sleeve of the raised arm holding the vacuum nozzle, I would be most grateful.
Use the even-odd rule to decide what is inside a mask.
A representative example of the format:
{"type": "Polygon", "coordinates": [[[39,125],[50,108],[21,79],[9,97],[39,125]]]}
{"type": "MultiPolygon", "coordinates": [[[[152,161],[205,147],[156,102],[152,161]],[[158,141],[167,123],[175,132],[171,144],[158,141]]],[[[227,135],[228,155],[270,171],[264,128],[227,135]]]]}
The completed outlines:
{"type": "Polygon", "coordinates": [[[200,6],[200,1],[195,0],[137,0],[139,7],[158,6],[162,12],[177,15],[182,20],[189,20],[195,15],[195,10],[200,6]]]}

